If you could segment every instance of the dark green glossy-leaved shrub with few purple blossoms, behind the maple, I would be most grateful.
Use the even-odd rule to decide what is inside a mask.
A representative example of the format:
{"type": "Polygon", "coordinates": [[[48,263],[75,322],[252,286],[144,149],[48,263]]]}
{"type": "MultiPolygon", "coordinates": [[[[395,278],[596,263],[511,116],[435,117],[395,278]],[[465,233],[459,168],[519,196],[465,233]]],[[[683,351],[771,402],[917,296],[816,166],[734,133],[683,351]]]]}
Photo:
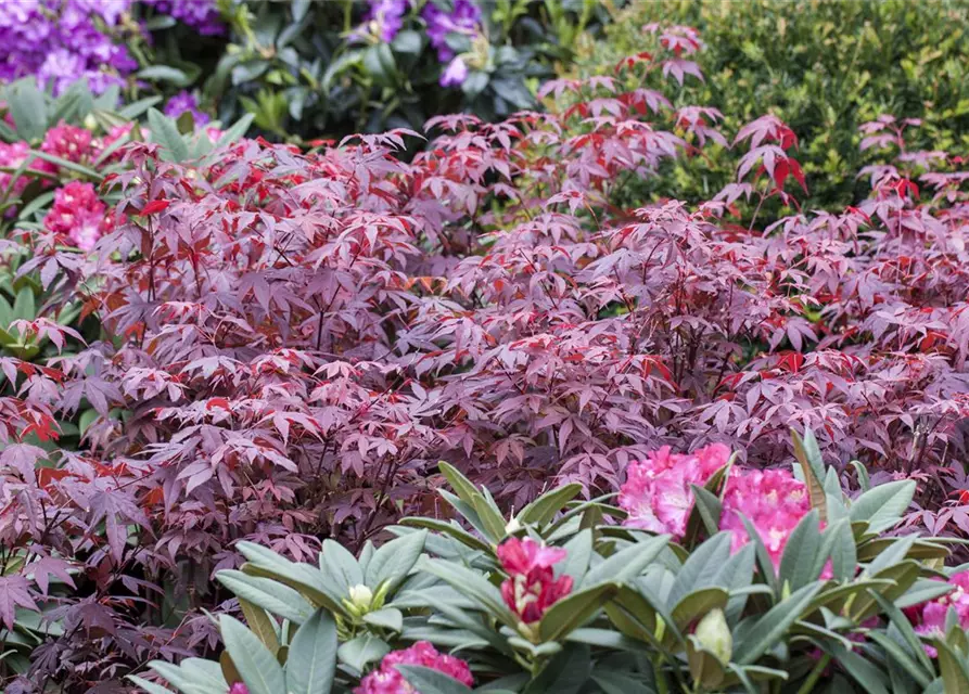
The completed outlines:
{"type": "Polygon", "coordinates": [[[219,7],[230,43],[204,82],[207,101],[224,118],[248,112],[264,132],[305,139],[419,129],[444,113],[495,119],[532,107],[538,80],[571,59],[576,35],[601,13],[589,0],[219,7]],[[460,69],[448,77],[455,57],[460,69]]]}

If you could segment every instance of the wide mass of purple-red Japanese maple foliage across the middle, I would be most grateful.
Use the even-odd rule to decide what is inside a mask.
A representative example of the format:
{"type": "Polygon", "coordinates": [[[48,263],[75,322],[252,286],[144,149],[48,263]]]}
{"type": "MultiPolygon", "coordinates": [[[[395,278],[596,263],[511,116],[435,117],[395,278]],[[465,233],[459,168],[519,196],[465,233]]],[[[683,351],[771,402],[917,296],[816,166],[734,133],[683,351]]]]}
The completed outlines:
{"type": "Polygon", "coordinates": [[[26,321],[62,357],[0,360],[0,624],[43,603],[66,634],[34,681],[82,689],[199,645],[213,629],[191,608],[218,602],[235,541],[361,547],[441,511],[442,460],[519,509],[554,481],[617,488],[663,445],[775,464],[811,427],[829,464],[920,476],[929,516],[949,510],[936,480],[966,457],[969,408],[960,162],[903,151],[856,207],[741,227],[741,207],[806,184],[795,133],[765,117],[710,202],[616,209],[623,177],[725,140],[716,112],[625,88],[691,75],[688,36],[553,82],[577,98],[560,113],[435,118],[410,162],[404,130],[194,164],[127,145],[94,253],[40,233],[22,268],[81,296],[103,339],[26,321]],[[88,407],[80,450],[36,445],[88,407]]]}

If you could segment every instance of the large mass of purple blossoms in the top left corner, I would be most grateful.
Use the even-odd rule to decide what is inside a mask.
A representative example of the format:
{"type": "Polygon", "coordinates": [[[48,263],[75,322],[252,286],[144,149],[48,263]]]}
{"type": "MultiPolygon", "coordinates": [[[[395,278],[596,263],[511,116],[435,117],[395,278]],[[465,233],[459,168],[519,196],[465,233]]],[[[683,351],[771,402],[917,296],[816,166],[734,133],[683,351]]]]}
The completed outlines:
{"type": "Polygon", "coordinates": [[[0,80],[36,75],[55,94],[82,78],[94,93],[123,83],[138,65],[110,33],[130,4],[131,0],[0,2],[0,80]]]}

